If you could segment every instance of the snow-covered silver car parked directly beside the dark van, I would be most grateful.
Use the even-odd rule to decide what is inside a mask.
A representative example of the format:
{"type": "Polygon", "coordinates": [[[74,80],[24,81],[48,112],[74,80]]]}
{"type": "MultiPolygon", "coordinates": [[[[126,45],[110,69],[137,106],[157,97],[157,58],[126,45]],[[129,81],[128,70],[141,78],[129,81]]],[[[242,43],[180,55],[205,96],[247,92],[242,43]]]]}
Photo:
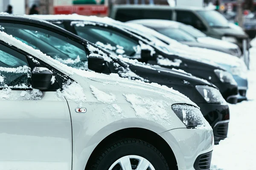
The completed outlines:
{"type": "Polygon", "coordinates": [[[128,22],[138,23],[154,29],[167,37],[192,47],[208,48],[241,57],[241,50],[238,45],[207,37],[203,32],[183,23],[169,20],[132,20],[128,22]]]}

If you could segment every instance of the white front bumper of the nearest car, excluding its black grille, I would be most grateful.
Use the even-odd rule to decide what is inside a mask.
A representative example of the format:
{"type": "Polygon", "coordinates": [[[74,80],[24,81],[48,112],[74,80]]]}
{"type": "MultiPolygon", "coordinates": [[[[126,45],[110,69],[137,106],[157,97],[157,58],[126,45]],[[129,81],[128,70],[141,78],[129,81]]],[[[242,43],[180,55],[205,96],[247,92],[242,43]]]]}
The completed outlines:
{"type": "Polygon", "coordinates": [[[198,156],[214,147],[212,130],[179,128],[159,135],[172,148],[179,170],[195,170],[198,156]]]}

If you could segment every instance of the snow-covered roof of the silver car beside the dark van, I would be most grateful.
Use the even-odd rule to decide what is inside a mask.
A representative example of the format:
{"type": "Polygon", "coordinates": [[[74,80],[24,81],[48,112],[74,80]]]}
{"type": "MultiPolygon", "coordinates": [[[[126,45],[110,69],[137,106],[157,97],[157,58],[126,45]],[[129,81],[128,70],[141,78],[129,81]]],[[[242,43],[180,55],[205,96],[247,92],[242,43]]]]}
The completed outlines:
{"type": "Polygon", "coordinates": [[[144,19],[144,20],[131,20],[127,23],[137,23],[143,26],[148,26],[152,28],[179,28],[179,26],[185,25],[177,21],[170,20],[157,20],[157,19],[144,19]]]}

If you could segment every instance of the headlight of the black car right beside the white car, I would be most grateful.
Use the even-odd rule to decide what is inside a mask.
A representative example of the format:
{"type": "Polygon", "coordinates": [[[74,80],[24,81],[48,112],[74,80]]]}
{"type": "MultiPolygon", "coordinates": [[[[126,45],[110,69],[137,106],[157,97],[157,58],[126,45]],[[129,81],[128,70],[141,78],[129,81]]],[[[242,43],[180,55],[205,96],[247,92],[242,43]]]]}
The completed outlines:
{"type": "Polygon", "coordinates": [[[221,95],[221,92],[217,88],[213,88],[208,85],[196,85],[195,88],[208,103],[226,103],[225,99],[221,95]]]}

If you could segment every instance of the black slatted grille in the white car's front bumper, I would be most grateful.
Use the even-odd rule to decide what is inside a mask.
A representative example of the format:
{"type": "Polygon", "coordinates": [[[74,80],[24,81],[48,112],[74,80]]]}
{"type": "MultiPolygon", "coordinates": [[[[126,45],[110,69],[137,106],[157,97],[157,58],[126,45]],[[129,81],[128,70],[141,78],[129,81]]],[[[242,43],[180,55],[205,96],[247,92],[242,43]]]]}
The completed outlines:
{"type": "Polygon", "coordinates": [[[197,157],[194,163],[195,170],[210,170],[212,161],[212,151],[201,154],[197,157]]]}

